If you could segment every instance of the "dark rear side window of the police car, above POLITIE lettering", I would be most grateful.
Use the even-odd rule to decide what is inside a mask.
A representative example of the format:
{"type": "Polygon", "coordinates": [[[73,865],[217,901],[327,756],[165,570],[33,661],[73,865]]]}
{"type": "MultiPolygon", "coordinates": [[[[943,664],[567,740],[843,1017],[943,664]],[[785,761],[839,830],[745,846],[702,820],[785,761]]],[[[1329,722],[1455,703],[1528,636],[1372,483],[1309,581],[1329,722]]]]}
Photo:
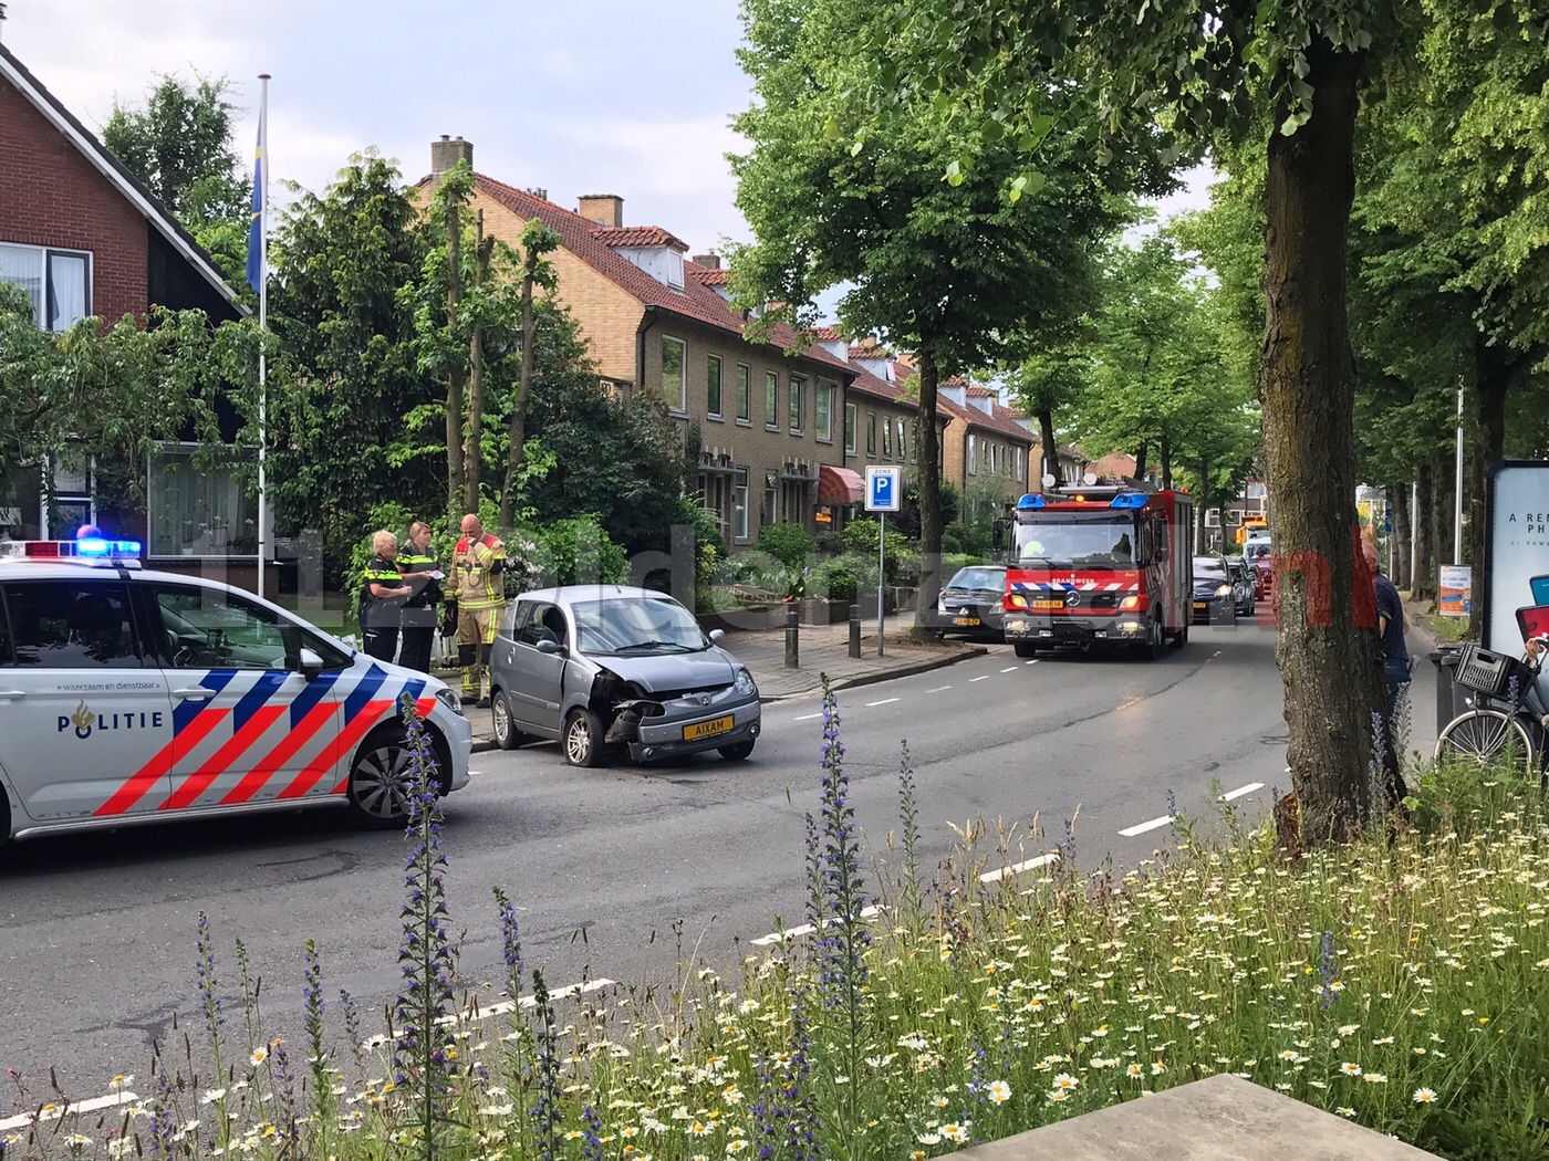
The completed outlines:
{"type": "Polygon", "coordinates": [[[39,669],[139,669],[144,655],[119,580],[17,580],[5,587],[5,664],[39,669]]]}

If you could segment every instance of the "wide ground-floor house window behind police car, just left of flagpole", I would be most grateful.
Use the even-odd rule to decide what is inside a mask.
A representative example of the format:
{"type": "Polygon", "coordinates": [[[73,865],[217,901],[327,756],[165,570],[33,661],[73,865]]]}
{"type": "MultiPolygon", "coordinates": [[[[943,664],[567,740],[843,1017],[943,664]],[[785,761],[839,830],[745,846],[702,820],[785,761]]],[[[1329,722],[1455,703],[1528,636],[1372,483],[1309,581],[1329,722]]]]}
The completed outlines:
{"type": "Polygon", "coordinates": [[[232,467],[195,464],[195,450],[167,444],[152,455],[149,556],[257,556],[257,495],[232,467]]]}

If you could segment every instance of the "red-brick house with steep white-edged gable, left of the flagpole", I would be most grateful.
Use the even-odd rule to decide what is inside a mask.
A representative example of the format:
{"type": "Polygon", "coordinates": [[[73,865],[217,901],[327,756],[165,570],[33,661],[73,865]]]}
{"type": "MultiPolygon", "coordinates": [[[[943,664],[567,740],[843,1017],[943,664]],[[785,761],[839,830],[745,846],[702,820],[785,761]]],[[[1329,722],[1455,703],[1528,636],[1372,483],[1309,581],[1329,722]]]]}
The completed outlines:
{"type": "MultiPolygon", "coordinates": [[[[96,136],[0,46],[0,282],[33,299],[37,324],[65,330],[98,316],[144,322],[152,307],[242,308],[209,255],[96,136]]],[[[234,416],[231,435],[235,435],[234,416]]],[[[93,469],[39,464],[0,481],[0,536],[53,539],[94,522],[146,542],[147,556],[195,568],[256,563],[257,498],[231,475],[192,471],[192,447],[166,446],[147,478],[147,511],[98,503],[93,469]],[[251,545],[251,548],[248,548],[251,545]]]]}

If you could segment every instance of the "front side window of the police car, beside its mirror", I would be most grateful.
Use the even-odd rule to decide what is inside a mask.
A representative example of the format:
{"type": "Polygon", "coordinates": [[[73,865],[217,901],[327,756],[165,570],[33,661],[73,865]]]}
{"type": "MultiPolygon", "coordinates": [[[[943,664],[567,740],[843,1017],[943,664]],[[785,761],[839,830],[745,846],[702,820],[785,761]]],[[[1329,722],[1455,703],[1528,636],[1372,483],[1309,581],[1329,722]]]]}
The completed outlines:
{"type": "Polygon", "coordinates": [[[301,625],[274,610],[201,585],[152,591],[166,656],[177,669],[301,669],[301,625]]]}

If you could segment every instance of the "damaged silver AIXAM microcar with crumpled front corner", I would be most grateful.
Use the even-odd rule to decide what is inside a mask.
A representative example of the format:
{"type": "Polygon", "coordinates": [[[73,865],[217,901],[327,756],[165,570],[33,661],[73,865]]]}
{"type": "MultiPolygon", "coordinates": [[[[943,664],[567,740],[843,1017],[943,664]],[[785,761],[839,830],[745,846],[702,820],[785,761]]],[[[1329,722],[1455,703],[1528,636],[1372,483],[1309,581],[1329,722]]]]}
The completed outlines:
{"type": "Polygon", "coordinates": [[[502,749],[559,741],[573,766],[720,751],[740,762],[759,735],[753,675],[665,593],[568,585],[522,593],[491,664],[502,749]]]}

